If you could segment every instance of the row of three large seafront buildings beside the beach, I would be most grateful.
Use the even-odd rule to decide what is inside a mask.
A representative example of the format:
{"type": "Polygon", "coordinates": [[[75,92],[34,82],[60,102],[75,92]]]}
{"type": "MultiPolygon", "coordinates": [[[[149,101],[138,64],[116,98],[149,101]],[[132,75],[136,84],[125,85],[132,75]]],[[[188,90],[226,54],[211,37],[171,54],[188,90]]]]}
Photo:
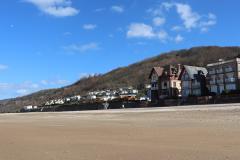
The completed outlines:
{"type": "Polygon", "coordinates": [[[220,95],[240,90],[240,58],[220,59],[205,67],[154,67],[149,75],[151,100],[220,95]]]}

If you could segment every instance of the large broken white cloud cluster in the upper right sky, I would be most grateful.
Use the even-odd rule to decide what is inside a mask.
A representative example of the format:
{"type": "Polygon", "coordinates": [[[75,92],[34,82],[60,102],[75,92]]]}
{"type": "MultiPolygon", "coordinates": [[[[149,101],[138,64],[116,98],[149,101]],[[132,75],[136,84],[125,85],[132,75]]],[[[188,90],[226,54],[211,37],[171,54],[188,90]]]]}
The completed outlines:
{"type": "Polygon", "coordinates": [[[217,23],[216,15],[213,13],[208,13],[207,15],[199,14],[187,3],[163,2],[155,8],[148,9],[147,12],[150,13],[153,18],[152,25],[146,23],[131,23],[128,27],[127,38],[158,39],[162,42],[180,43],[184,40],[184,37],[179,33],[174,35],[171,34],[171,32],[191,32],[193,29],[207,32],[211,26],[217,23]],[[172,16],[172,13],[169,13],[172,10],[177,13],[179,16],[177,20],[180,20],[182,24],[163,29],[162,26],[166,23],[166,17],[169,16],[167,14],[172,16]]]}

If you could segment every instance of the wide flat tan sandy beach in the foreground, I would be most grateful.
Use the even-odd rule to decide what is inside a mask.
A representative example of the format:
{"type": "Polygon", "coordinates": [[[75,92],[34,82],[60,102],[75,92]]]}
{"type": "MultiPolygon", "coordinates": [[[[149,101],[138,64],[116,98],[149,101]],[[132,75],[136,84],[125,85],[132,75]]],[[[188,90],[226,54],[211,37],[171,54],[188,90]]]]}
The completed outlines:
{"type": "Polygon", "coordinates": [[[0,160],[238,160],[240,104],[0,115],[0,160]]]}

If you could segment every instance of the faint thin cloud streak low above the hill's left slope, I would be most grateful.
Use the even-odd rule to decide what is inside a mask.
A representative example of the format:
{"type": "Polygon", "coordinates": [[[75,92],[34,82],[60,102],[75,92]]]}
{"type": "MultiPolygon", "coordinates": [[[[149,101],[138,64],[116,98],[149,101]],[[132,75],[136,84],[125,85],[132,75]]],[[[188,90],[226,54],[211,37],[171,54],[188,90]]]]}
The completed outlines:
{"type": "Polygon", "coordinates": [[[85,53],[88,51],[99,49],[99,44],[95,43],[95,42],[91,42],[91,43],[87,43],[87,44],[72,44],[69,46],[65,46],[63,48],[70,52],[85,53]]]}

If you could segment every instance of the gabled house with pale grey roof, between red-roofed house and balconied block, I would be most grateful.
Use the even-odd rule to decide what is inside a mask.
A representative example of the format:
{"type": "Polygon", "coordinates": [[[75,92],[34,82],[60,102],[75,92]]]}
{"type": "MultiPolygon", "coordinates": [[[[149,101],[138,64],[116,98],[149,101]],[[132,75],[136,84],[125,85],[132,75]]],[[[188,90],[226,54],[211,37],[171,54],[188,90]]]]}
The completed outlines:
{"type": "Polygon", "coordinates": [[[207,73],[206,68],[184,65],[179,76],[182,97],[207,95],[207,73]]]}

